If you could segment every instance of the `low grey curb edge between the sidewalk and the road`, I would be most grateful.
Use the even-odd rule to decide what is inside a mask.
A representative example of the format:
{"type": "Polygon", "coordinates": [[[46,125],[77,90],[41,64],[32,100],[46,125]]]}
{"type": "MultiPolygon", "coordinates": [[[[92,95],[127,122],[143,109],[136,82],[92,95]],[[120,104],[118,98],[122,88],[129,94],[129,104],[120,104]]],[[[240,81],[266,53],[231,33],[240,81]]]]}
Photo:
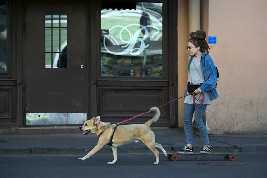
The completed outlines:
{"type": "MultiPolygon", "coordinates": [[[[167,152],[178,151],[184,145],[162,145],[167,152]]],[[[202,149],[202,145],[194,146],[194,151],[198,152],[202,149]]],[[[16,154],[87,154],[93,147],[16,147],[16,148],[0,148],[0,155],[16,155],[16,154]]],[[[147,146],[120,146],[118,153],[149,153],[147,146]]],[[[161,150],[158,149],[160,153],[161,150]]],[[[230,145],[213,145],[213,152],[265,152],[267,144],[238,144],[230,145]]],[[[112,153],[109,146],[104,146],[97,153],[112,153]]],[[[96,154],[97,154],[96,153],[96,154]]]]}

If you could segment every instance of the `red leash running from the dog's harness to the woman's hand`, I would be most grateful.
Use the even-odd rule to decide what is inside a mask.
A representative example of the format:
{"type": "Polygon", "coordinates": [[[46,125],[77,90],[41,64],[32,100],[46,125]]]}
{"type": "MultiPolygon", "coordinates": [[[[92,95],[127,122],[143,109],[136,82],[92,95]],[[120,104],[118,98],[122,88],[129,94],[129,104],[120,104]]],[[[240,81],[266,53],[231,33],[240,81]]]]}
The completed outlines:
{"type": "MultiPolygon", "coordinates": [[[[189,94],[187,94],[187,95],[184,95],[183,97],[187,97],[188,95],[193,95],[193,103],[194,103],[197,107],[200,107],[200,106],[202,105],[202,103],[204,102],[205,95],[204,95],[203,93],[200,93],[200,96],[199,96],[199,98],[197,99],[197,98],[195,98],[195,94],[196,94],[195,92],[192,92],[192,93],[189,93],[189,94]],[[201,98],[201,96],[202,96],[202,98],[201,98]],[[195,100],[199,101],[200,104],[196,104],[195,100]]],[[[160,108],[160,107],[162,107],[162,106],[165,106],[165,105],[167,105],[167,104],[169,104],[169,103],[172,103],[173,101],[176,101],[176,100],[181,99],[181,98],[183,98],[183,97],[176,98],[176,99],[174,99],[174,100],[172,100],[172,101],[170,101],[170,102],[168,102],[168,103],[165,103],[165,104],[159,106],[158,108],[160,108]]],[[[117,126],[120,125],[120,124],[123,124],[123,123],[125,123],[125,122],[128,122],[128,121],[130,121],[130,120],[132,120],[132,119],[135,119],[135,118],[137,118],[137,117],[140,117],[141,115],[144,115],[144,114],[146,114],[146,113],[149,113],[149,111],[147,111],[147,112],[145,112],[145,113],[140,113],[140,114],[138,114],[138,115],[135,115],[134,117],[131,117],[131,118],[126,119],[126,120],[124,120],[124,121],[118,122],[118,123],[117,123],[117,126]]]]}

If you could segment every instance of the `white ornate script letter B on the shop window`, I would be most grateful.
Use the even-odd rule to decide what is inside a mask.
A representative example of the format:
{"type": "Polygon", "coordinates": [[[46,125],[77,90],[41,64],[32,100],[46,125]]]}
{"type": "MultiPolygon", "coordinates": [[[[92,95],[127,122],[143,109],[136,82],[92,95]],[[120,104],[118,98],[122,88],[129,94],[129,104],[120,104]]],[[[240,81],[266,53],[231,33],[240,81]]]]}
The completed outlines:
{"type": "Polygon", "coordinates": [[[106,46],[106,42],[105,42],[106,36],[104,36],[104,41],[103,41],[104,48],[110,54],[113,54],[113,55],[125,55],[127,53],[130,53],[132,56],[140,55],[149,46],[149,44],[145,44],[145,40],[149,36],[148,28],[156,29],[157,32],[155,32],[154,34],[157,34],[159,32],[158,27],[156,27],[154,25],[143,26],[143,25],[140,25],[140,24],[130,24],[130,25],[127,25],[127,26],[116,25],[116,26],[110,28],[109,32],[111,33],[112,30],[115,29],[115,28],[120,28],[119,38],[120,38],[120,40],[122,42],[124,42],[126,44],[126,45],[121,46],[121,48],[122,49],[126,48],[126,49],[124,49],[121,52],[110,51],[108,49],[108,47],[106,46]],[[131,27],[131,26],[138,26],[139,29],[133,34],[128,30],[128,28],[131,27]],[[129,40],[124,40],[122,38],[122,34],[123,34],[124,31],[126,31],[129,34],[129,40]],[[144,36],[143,37],[139,37],[140,33],[143,34],[142,31],[144,32],[144,36]],[[138,42],[140,42],[140,47],[139,48],[134,48],[135,44],[138,43],[138,42]]]}

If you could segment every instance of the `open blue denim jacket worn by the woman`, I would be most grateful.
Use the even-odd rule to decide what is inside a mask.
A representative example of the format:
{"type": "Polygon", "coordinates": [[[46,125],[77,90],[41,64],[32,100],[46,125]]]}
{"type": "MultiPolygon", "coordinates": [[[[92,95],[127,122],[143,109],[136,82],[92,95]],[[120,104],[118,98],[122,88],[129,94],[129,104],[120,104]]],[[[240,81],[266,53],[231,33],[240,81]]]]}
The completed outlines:
{"type": "MultiPolygon", "coordinates": [[[[189,62],[188,62],[188,71],[190,72],[190,64],[193,60],[194,56],[191,56],[189,62]]],[[[217,72],[215,65],[213,63],[213,60],[211,57],[207,54],[205,55],[205,52],[201,55],[201,62],[200,62],[202,73],[204,74],[205,82],[200,86],[200,89],[202,92],[208,92],[210,101],[217,99],[219,97],[219,94],[217,93],[215,86],[217,82],[217,72]]],[[[187,93],[187,90],[185,94],[187,93]]]]}

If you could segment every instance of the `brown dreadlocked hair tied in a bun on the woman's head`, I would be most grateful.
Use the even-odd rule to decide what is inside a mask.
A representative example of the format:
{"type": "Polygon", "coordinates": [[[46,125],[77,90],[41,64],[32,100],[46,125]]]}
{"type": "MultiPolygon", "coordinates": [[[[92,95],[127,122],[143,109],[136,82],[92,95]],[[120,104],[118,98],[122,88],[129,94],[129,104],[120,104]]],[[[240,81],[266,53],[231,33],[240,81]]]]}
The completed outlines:
{"type": "Polygon", "coordinates": [[[205,51],[207,54],[209,54],[210,47],[206,41],[206,32],[202,30],[191,32],[188,42],[193,43],[195,47],[200,47],[201,52],[205,51]]]}

